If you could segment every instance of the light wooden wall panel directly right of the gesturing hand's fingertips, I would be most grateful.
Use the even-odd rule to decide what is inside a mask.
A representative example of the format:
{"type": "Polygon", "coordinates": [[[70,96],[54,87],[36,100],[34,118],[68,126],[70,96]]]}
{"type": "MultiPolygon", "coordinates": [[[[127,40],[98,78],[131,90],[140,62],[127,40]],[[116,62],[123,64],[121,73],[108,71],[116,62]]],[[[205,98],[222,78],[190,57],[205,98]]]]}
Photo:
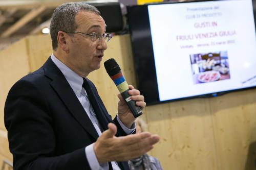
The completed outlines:
{"type": "Polygon", "coordinates": [[[146,107],[149,130],[160,135],[152,155],[164,169],[217,169],[208,99],[146,107]]]}

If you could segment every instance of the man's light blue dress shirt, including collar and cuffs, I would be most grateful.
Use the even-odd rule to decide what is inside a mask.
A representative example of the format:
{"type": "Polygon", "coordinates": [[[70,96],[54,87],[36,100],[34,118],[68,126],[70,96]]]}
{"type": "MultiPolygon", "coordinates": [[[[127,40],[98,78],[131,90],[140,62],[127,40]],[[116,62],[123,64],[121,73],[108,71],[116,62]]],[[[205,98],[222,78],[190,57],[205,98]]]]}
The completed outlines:
{"type": "MultiPolygon", "coordinates": [[[[53,54],[51,55],[51,59],[54,62],[54,64],[60,69],[60,71],[65,76],[67,81],[69,82],[69,85],[75,92],[78,100],[80,101],[82,107],[86,111],[88,117],[91,119],[94,128],[96,129],[98,135],[100,136],[102,133],[101,132],[102,128],[98,122],[98,119],[97,119],[96,114],[92,108],[92,105],[90,104],[86,90],[84,90],[84,88],[82,87],[83,78],[81,76],[79,76],[78,74],[76,74],[68,66],[63,64],[61,61],[59,61],[53,54]]],[[[133,123],[132,129],[128,129],[122,124],[118,115],[117,115],[117,121],[126,134],[132,134],[135,131],[135,123],[133,123]]],[[[85,149],[86,157],[87,157],[87,160],[89,162],[91,169],[104,169],[104,170],[109,169],[108,163],[99,164],[93,148],[94,148],[94,143],[88,145],[85,149]]],[[[111,162],[111,164],[112,164],[112,167],[114,170],[120,169],[117,165],[117,162],[111,162]]]]}

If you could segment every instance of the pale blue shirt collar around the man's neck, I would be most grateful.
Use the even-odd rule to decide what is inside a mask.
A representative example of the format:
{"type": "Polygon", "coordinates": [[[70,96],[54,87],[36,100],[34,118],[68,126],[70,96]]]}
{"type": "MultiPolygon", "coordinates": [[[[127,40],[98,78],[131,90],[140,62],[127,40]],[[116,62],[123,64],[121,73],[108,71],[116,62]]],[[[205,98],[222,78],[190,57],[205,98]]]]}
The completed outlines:
{"type": "Polygon", "coordinates": [[[53,54],[51,55],[51,59],[65,76],[73,91],[78,96],[80,96],[82,91],[83,78],[71,70],[67,65],[58,60],[53,54]]]}

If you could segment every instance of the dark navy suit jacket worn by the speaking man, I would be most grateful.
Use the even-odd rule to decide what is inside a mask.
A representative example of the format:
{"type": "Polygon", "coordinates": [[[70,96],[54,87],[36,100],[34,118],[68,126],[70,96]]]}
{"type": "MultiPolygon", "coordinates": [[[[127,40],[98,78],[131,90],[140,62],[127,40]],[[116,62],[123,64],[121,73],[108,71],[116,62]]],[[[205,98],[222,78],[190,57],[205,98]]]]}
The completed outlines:
{"type": "MultiPolygon", "coordinates": [[[[126,135],[89,84],[103,112],[101,118],[116,124],[116,136],[126,135]]],[[[5,126],[14,169],[90,169],[84,148],[98,134],[51,58],[13,85],[5,104],[5,126]]],[[[129,169],[127,162],[118,164],[129,169]]]]}

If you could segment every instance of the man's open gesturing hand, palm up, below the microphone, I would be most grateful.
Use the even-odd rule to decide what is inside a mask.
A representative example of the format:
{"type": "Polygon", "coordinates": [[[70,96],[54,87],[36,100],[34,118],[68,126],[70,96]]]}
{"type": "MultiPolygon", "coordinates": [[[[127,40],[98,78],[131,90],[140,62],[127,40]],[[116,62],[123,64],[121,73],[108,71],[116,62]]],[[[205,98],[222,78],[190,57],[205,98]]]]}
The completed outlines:
{"type": "Polygon", "coordinates": [[[94,152],[99,164],[110,161],[126,161],[139,157],[153,149],[153,144],[159,141],[158,135],[148,132],[116,137],[116,126],[112,123],[94,144],[94,152]]]}

